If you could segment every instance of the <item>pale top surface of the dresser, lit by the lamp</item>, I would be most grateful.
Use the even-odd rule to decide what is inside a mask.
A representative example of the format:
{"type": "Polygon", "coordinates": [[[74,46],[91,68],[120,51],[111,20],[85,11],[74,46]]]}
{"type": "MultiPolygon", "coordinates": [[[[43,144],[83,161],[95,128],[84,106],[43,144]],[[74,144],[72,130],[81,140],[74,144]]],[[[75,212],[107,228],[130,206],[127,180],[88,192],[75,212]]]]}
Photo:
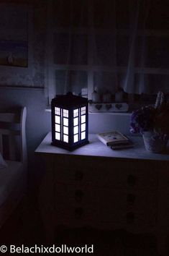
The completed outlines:
{"type": "Polygon", "coordinates": [[[35,153],[39,154],[65,154],[65,155],[91,155],[110,158],[127,158],[127,159],[144,159],[144,160],[156,160],[156,161],[169,161],[169,145],[165,153],[150,153],[145,150],[142,137],[129,137],[134,142],[134,148],[126,148],[123,150],[111,150],[110,147],[104,145],[96,135],[89,135],[89,144],[84,145],[73,151],[68,151],[63,148],[58,148],[50,145],[51,132],[49,132],[44,140],[35,150],[35,153]]]}

